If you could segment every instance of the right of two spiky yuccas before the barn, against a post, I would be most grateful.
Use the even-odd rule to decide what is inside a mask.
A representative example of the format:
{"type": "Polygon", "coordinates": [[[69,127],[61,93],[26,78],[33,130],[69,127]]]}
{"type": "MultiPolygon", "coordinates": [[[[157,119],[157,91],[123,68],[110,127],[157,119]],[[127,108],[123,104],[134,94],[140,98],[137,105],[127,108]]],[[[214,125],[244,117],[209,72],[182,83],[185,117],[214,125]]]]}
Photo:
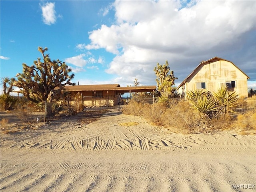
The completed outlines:
{"type": "Polygon", "coordinates": [[[228,112],[233,112],[238,105],[239,95],[234,91],[229,91],[227,86],[222,86],[218,91],[213,92],[213,96],[218,101],[220,113],[227,115],[228,112]]]}

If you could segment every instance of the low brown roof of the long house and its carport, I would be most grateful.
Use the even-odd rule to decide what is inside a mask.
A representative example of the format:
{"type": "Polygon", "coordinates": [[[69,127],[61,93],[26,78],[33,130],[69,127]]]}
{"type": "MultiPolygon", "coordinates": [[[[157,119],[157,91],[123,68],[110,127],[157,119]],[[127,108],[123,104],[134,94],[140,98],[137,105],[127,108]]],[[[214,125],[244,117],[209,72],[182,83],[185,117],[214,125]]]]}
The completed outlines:
{"type": "Polygon", "coordinates": [[[152,92],[156,90],[156,86],[133,86],[133,87],[120,87],[119,84],[101,84],[101,85],[74,85],[65,86],[66,91],[82,92],[82,91],[117,91],[120,93],[125,92],[152,92]]]}

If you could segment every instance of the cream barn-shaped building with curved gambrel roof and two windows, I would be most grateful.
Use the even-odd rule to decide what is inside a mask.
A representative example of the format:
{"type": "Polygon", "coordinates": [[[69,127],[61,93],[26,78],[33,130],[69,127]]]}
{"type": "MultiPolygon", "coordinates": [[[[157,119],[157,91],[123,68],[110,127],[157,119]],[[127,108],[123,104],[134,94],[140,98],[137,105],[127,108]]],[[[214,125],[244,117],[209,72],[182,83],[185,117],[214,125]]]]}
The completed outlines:
{"type": "Polygon", "coordinates": [[[202,61],[196,69],[178,86],[178,93],[185,96],[186,92],[196,89],[217,91],[221,86],[228,86],[242,97],[248,97],[247,80],[249,77],[231,61],[214,57],[202,61]]]}

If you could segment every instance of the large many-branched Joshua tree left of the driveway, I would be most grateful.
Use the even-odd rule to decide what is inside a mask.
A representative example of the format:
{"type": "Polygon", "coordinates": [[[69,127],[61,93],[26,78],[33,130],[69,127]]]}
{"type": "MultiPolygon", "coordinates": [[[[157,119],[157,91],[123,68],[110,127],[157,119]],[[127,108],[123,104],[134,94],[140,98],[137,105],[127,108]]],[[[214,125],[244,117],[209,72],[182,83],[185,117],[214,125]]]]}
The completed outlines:
{"type": "Polygon", "coordinates": [[[14,85],[22,88],[22,94],[30,101],[39,103],[52,102],[60,97],[57,93],[64,90],[65,85],[74,85],[71,80],[74,74],[72,70],[60,60],[51,60],[49,54],[45,54],[48,48],[38,47],[43,60],[38,58],[34,65],[28,66],[23,63],[23,72],[16,75],[14,85]]]}

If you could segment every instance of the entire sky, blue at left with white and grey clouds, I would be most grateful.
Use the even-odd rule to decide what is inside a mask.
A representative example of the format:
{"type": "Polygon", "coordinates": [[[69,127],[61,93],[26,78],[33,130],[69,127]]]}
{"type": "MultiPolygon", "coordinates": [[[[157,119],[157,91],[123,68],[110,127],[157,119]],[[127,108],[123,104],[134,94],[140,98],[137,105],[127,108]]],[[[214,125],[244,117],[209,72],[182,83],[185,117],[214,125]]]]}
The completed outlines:
{"type": "Polygon", "coordinates": [[[38,46],[76,84],[155,85],[168,60],[176,86],[202,60],[232,61],[256,89],[255,1],[0,1],[0,76],[31,66],[38,46]]]}

